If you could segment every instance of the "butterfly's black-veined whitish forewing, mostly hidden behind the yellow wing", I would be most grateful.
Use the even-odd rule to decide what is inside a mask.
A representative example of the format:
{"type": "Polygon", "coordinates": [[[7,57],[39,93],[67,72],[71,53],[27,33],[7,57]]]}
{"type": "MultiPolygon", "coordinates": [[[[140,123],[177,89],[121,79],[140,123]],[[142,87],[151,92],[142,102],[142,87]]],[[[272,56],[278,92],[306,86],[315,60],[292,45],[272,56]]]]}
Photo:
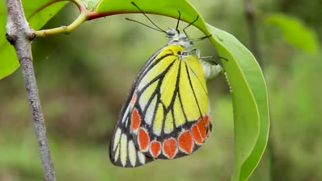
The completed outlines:
{"type": "Polygon", "coordinates": [[[114,128],[114,132],[109,144],[109,158],[111,162],[119,167],[138,167],[144,165],[147,162],[151,162],[153,158],[145,156],[140,152],[133,141],[133,136],[130,133],[130,124],[132,120],[132,108],[133,108],[133,93],[140,82],[144,71],[151,67],[151,63],[155,60],[155,57],[160,54],[159,49],[156,51],[136,76],[130,89],[130,93],[127,95],[125,104],[122,106],[120,116],[114,128]]]}

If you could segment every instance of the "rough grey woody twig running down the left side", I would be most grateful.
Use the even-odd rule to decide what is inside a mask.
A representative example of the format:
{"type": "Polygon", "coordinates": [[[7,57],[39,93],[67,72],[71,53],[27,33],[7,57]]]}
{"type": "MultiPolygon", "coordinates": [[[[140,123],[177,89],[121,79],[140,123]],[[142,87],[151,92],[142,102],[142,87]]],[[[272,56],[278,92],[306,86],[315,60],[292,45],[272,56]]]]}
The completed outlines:
{"type": "Polygon", "coordinates": [[[35,38],[34,30],[29,26],[23,13],[21,0],[6,0],[7,8],[7,34],[6,38],[14,45],[17,58],[21,64],[23,80],[27,89],[30,110],[34,120],[34,130],[39,142],[39,152],[45,174],[45,180],[55,181],[54,165],[50,147],[46,137],[45,121],[39,100],[36,78],[34,77],[34,68],[32,65],[31,41],[35,38]]]}

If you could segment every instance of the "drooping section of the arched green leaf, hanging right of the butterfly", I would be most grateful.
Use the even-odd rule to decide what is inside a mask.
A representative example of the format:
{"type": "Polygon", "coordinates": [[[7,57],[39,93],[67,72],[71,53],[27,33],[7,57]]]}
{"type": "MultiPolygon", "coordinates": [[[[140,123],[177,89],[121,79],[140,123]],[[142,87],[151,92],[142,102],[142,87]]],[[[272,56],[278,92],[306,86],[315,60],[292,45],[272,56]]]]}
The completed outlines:
{"type": "Polygon", "coordinates": [[[254,56],[239,41],[208,25],[233,90],[235,163],[232,180],[247,180],[257,167],[268,140],[269,114],[266,83],[254,56]]]}

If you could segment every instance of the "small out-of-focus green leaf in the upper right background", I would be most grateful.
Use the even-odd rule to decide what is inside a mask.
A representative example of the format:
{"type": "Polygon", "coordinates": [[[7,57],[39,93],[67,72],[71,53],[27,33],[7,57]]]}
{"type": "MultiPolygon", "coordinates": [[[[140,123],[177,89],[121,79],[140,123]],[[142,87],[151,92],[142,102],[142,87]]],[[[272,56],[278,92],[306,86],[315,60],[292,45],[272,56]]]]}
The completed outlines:
{"type": "Polygon", "coordinates": [[[266,14],[265,20],[281,29],[288,43],[316,55],[319,46],[316,33],[310,27],[305,26],[301,20],[280,13],[266,14]]]}

